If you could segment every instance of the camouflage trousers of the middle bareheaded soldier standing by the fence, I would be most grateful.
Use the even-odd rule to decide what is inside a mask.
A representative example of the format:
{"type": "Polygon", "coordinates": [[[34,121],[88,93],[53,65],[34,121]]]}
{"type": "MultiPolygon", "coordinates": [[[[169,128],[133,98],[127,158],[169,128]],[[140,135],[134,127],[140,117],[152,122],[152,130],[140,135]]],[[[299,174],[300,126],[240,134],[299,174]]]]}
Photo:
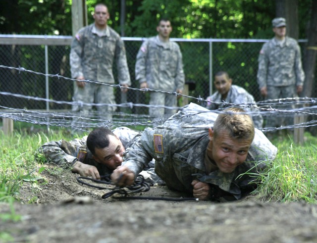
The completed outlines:
{"type": "MultiPolygon", "coordinates": [[[[173,96],[170,94],[164,94],[160,92],[151,92],[149,104],[175,107],[176,101],[177,101],[176,96],[173,96]]],[[[176,112],[177,112],[176,109],[166,109],[166,108],[160,108],[160,107],[149,108],[149,114],[153,120],[167,119],[171,117],[172,115],[174,115],[176,112]]]]}

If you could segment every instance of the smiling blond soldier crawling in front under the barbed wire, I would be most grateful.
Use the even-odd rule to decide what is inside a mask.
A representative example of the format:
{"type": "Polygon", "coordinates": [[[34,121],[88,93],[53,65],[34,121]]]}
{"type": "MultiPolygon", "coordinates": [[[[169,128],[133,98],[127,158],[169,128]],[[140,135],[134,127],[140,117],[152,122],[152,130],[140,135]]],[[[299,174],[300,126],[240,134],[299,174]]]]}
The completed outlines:
{"type": "Polygon", "coordinates": [[[227,110],[217,115],[190,103],[162,126],[145,129],[126,150],[112,181],[132,184],[154,158],[156,173],[171,189],[202,200],[241,198],[255,188],[256,183],[250,182],[275,158],[277,148],[254,128],[249,115],[236,113],[242,108],[227,110]]]}

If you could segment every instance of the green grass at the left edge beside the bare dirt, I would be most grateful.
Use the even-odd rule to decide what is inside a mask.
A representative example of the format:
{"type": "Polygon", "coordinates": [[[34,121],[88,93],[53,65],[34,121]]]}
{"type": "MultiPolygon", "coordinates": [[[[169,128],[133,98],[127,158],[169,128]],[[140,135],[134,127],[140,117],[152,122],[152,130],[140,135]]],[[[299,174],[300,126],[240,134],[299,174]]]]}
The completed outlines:
{"type": "Polygon", "coordinates": [[[42,144],[61,138],[72,139],[69,133],[53,131],[28,134],[17,130],[6,136],[0,131],[0,202],[16,199],[24,181],[36,182],[43,167],[36,151],[42,144]]]}

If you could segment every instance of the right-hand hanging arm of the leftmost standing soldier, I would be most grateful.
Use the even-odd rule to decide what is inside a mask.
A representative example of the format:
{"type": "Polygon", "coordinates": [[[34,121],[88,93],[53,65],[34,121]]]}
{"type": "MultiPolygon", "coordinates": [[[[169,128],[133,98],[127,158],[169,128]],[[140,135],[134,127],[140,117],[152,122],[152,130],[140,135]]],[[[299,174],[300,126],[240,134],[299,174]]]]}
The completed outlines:
{"type": "MultiPolygon", "coordinates": [[[[124,42],[121,39],[118,39],[116,42],[115,59],[118,70],[118,82],[124,87],[129,87],[131,85],[130,73],[124,42]]],[[[127,89],[123,89],[122,91],[127,91],[127,89]]]]}

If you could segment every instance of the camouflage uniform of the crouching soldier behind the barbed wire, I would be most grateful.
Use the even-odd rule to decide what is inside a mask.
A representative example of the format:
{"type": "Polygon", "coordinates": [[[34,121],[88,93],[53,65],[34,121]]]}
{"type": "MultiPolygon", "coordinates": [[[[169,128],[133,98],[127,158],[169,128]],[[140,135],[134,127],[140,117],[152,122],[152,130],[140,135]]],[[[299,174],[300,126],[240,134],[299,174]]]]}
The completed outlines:
{"type": "MultiPolygon", "coordinates": [[[[243,89],[240,86],[237,85],[231,85],[231,88],[228,92],[228,95],[225,100],[221,98],[221,94],[219,92],[215,92],[212,96],[207,97],[207,100],[217,102],[217,103],[222,103],[222,102],[227,102],[227,103],[233,103],[233,104],[243,104],[243,103],[256,103],[254,100],[254,97],[249,94],[245,89],[243,89]]],[[[257,105],[254,105],[255,107],[258,107],[257,105]]],[[[207,109],[210,110],[216,110],[218,108],[225,108],[225,104],[215,104],[211,102],[207,102],[207,109]]],[[[263,125],[263,118],[262,115],[260,115],[260,110],[258,108],[247,108],[247,107],[242,107],[248,112],[256,112],[257,114],[253,114],[253,122],[254,126],[256,128],[262,128],[263,125]]]]}

